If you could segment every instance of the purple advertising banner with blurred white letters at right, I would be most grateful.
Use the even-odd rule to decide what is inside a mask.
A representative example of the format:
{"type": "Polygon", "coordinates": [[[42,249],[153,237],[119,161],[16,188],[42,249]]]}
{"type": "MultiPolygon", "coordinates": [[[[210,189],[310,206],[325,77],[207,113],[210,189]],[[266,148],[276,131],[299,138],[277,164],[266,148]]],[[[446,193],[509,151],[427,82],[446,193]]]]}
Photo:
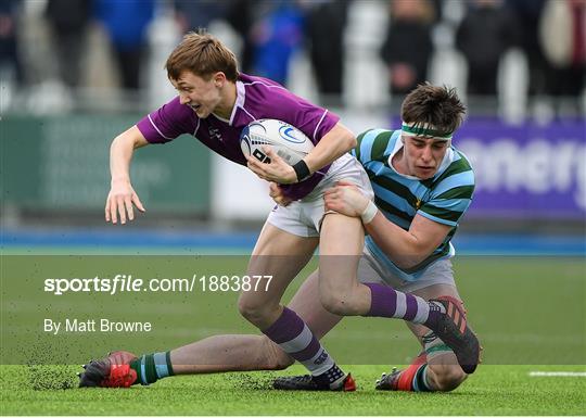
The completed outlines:
{"type": "Polygon", "coordinates": [[[470,159],[476,176],[467,216],[585,217],[586,121],[513,126],[470,118],[454,144],[470,159]]]}

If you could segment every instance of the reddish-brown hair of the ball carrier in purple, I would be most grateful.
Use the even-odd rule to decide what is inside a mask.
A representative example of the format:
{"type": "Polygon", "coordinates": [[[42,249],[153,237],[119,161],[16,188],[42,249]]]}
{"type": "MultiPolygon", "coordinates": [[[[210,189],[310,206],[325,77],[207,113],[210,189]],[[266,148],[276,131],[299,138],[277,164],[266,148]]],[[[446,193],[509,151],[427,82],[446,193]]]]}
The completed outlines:
{"type": "Polygon", "coordinates": [[[238,78],[237,59],[216,37],[205,33],[191,31],[171,52],[165,68],[167,77],[177,80],[182,72],[189,71],[204,79],[222,72],[226,78],[235,83],[238,78]]]}

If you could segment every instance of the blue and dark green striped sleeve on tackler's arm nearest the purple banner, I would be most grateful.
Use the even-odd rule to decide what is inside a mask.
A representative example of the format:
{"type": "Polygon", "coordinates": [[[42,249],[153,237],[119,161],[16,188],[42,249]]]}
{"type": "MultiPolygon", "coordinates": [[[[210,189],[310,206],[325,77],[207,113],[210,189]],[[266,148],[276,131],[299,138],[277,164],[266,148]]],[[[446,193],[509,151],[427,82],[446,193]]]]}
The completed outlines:
{"type": "Polygon", "coordinates": [[[460,159],[442,175],[431,191],[431,199],[419,207],[417,214],[456,227],[470,207],[473,193],[474,173],[470,164],[460,159]]]}

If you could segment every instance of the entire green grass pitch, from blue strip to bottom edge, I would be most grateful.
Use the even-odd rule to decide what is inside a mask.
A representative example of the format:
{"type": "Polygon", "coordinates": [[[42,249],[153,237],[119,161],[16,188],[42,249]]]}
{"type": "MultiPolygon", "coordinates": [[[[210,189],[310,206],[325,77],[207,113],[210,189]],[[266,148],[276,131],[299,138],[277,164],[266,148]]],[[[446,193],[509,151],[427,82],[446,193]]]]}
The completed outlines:
{"type": "MultiPolygon", "coordinates": [[[[256,333],[237,312],[237,292],[63,294],[50,277],[191,277],[235,274],[246,257],[11,256],[1,268],[2,415],[584,415],[586,378],[530,377],[585,371],[586,261],[583,257],[459,257],[458,288],[484,346],[484,365],[449,394],[387,393],[373,381],[409,363],[419,346],[404,324],[346,318],[326,338],[358,381],[356,393],[283,393],[275,373],[178,377],[130,390],[61,389],[110,350],[164,351],[217,333],[256,333]],[[43,318],[149,320],[149,333],[42,331],[43,318]],[[37,366],[24,366],[36,364],[37,366]],[[46,366],[61,364],[61,366],[46,366]],[[368,365],[368,366],[366,366],[368,365]],[[533,366],[527,366],[533,365],[533,366]],[[556,366],[558,365],[558,366],[556,366]]],[[[302,275],[308,274],[310,267],[302,275]]],[[[288,300],[301,278],[285,294],[288,300]]],[[[302,372],[298,366],[281,373],[302,372]]]]}

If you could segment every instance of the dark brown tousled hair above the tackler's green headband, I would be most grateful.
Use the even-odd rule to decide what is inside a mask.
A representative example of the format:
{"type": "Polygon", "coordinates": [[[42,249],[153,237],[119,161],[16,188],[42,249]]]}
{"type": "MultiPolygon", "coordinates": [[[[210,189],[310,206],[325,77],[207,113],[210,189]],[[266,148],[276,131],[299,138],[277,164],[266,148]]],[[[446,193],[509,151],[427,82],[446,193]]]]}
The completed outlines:
{"type": "Polygon", "coordinates": [[[466,106],[456,89],[447,86],[433,86],[425,83],[417,86],[405,98],[400,107],[403,121],[410,127],[431,124],[441,132],[453,132],[462,123],[466,106]]]}

